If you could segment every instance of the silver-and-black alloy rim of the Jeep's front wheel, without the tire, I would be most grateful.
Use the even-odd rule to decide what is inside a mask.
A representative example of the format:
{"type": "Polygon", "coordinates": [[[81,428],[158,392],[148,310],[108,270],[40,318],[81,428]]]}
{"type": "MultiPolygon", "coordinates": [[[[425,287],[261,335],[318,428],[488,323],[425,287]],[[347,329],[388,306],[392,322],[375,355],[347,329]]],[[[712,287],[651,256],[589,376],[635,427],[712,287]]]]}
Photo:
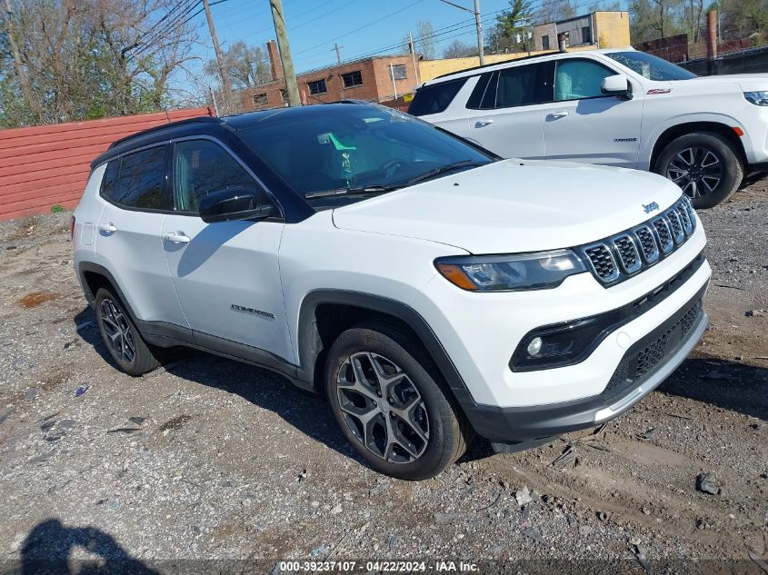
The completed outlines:
{"type": "Polygon", "coordinates": [[[430,431],[424,400],[394,362],[377,353],[354,353],[342,363],[336,382],[344,421],[368,451],[391,463],[424,454],[430,431]]]}

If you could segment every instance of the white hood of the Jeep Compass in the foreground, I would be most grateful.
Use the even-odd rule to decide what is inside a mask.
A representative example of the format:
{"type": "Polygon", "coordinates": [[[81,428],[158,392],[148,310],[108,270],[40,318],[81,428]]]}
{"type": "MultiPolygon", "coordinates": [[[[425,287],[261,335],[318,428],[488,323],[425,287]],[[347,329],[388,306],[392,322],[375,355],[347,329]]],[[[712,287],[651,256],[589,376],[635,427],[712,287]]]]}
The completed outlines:
{"type": "Polygon", "coordinates": [[[505,160],[334,210],[344,230],[446,243],[470,253],[572,247],[652,217],[680,188],[652,173],[568,162],[505,160]]]}

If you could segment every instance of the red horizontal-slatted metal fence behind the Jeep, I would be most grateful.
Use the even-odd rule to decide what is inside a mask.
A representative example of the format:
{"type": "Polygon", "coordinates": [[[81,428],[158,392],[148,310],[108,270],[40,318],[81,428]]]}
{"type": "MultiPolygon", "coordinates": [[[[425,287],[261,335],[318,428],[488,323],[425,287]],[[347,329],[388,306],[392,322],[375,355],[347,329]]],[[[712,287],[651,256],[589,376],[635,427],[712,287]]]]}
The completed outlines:
{"type": "Polygon", "coordinates": [[[0,220],[75,207],[91,161],[115,140],[208,108],[0,130],[0,220]]]}

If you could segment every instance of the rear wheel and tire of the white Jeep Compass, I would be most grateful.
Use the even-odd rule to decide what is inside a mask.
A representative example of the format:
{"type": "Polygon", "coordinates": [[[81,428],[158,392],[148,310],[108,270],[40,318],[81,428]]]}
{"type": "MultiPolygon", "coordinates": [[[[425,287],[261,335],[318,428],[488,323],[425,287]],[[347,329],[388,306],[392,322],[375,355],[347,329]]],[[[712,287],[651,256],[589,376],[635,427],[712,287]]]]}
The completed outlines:
{"type": "Polygon", "coordinates": [[[96,320],[107,351],[129,375],[152,372],[160,362],[136,329],[125,304],[107,288],[96,292],[96,320]]]}

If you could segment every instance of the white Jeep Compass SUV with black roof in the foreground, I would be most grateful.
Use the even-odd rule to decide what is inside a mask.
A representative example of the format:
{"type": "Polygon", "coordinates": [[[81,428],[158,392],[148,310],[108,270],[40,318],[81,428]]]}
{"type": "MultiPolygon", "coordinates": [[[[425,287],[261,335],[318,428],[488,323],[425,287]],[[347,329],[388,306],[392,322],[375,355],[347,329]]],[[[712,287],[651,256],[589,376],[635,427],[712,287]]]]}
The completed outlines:
{"type": "Polygon", "coordinates": [[[502,160],[373,104],[121,140],[93,163],[73,240],[120,369],[175,346],[264,366],[412,480],[475,433],[514,451],[613,419],[707,322],[704,232],[673,183],[502,160]]]}

